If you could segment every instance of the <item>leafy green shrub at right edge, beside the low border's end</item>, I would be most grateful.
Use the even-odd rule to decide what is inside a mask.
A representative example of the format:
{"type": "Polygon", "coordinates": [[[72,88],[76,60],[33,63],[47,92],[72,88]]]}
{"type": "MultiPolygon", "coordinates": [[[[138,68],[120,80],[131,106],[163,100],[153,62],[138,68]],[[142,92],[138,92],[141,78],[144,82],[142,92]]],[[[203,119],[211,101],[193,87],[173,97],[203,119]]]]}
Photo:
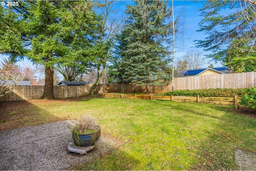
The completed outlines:
{"type": "Polygon", "coordinates": [[[242,99],[240,99],[239,104],[245,107],[251,106],[252,109],[256,109],[256,86],[245,89],[242,92],[242,99]]]}

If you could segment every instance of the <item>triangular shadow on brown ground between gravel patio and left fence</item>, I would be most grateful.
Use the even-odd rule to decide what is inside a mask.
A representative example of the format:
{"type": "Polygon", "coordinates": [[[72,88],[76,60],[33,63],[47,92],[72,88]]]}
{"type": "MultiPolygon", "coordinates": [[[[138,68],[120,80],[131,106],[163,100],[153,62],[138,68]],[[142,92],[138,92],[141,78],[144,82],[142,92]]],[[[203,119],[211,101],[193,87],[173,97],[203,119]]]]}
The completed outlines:
{"type": "Polygon", "coordinates": [[[60,119],[29,101],[0,102],[0,131],[40,125],[60,119]]]}

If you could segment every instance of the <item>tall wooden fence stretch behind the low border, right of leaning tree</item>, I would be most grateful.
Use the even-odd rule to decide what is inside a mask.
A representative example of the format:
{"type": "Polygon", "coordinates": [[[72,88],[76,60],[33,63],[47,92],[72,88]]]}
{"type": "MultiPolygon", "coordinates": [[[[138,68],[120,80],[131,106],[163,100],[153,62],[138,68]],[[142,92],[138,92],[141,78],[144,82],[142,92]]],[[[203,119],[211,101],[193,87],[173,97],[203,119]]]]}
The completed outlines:
{"type": "MultiPolygon", "coordinates": [[[[174,90],[209,89],[209,88],[237,89],[237,88],[248,88],[248,87],[254,87],[254,86],[256,86],[256,72],[174,78],[174,90]]],[[[164,86],[150,85],[151,93],[162,93],[162,92],[168,92],[168,91],[172,91],[172,82],[167,82],[166,84],[164,84],[164,86]]],[[[105,85],[104,92],[146,93],[146,85],[136,86],[130,83],[124,83],[124,84],[110,83],[105,85]]]]}

